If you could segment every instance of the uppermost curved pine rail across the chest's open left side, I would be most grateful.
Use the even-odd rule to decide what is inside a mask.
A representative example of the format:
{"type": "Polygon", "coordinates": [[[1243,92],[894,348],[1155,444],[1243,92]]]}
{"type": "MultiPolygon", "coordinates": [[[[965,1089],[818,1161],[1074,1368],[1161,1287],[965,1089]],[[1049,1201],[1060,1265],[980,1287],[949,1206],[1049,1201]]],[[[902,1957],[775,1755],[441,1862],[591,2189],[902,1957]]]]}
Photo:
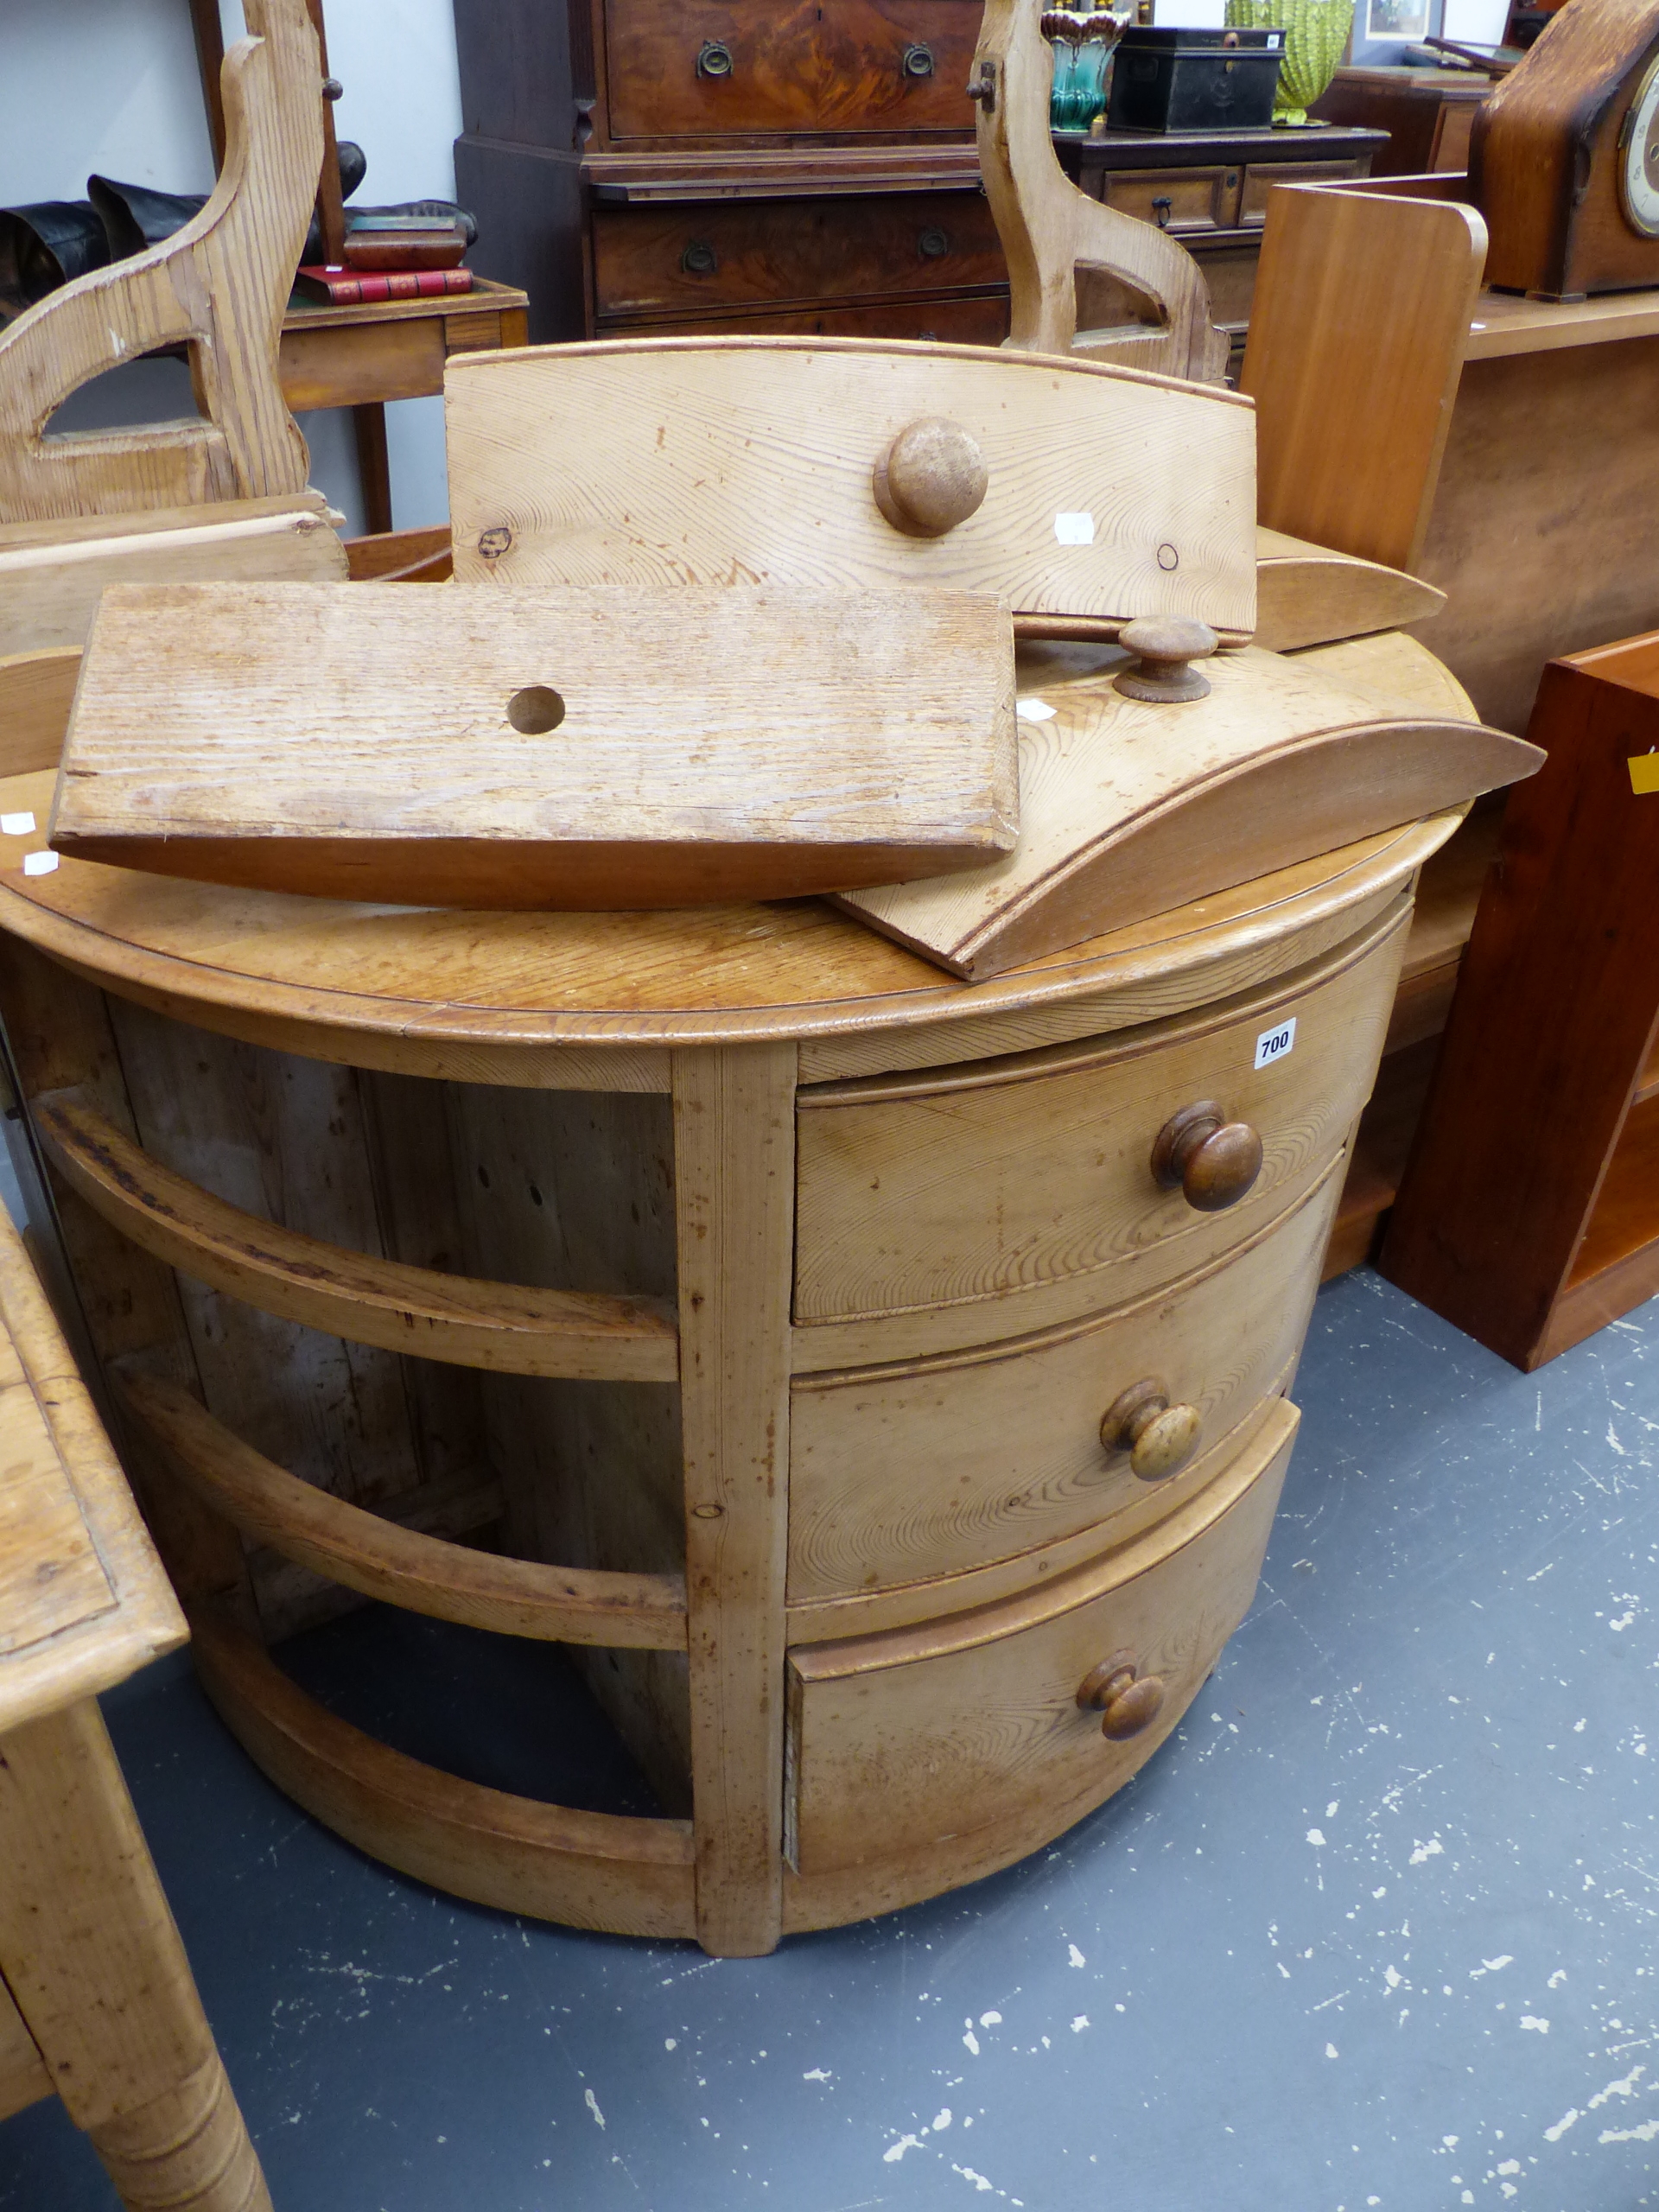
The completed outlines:
{"type": "Polygon", "coordinates": [[[529,1290],[438,1274],[246,1214],[150,1159],[71,1099],[35,1128],[86,1203],[135,1245],[246,1305],[422,1360],[573,1383],[672,1383],[679,1332],[666,1298],[529,1290]]]}

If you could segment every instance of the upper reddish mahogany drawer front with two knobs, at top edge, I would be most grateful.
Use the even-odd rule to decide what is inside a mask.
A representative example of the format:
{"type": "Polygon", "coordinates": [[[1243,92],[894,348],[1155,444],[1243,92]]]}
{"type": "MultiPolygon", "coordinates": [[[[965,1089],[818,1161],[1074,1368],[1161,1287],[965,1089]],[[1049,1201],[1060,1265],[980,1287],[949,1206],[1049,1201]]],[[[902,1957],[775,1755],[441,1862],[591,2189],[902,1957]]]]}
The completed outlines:
{"type": "Polygon", "coordinates": [[[606,0],[613,139],[973,133],[978,0],[606,0]]]}

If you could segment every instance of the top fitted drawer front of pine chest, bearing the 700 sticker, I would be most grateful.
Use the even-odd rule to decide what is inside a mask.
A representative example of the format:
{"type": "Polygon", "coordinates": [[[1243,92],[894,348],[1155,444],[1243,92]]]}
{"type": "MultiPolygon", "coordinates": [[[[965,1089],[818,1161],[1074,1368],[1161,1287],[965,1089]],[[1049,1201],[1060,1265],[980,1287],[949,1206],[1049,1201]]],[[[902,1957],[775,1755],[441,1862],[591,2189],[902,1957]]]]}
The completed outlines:
{"type": "MultiPolygon", "coordinates": [[[[1024,1334],[1031,1298],[1073,1281],[1071,1312],[1146,1296],[1281,1212],[1343,1146],[1383,1048],[1409,902],[1329,960],[1223,1006],[1099,1044],[1055,1046],[927,1077],[799,1093],[796,1323],[856,1323],[1002,1301],[945,1340],[1024,1334]],[[1296,1022],[1274,1057],[1265,1040],[1296,1022]],[[1152,1175],[1159,1128],[1214,1099],[1259,1130],[1263,1164],[1223,1212],[1152,1175]],[[1091,1281],[1084,1281],[1091,1279],[1091,1281]]],[[[896,1336],[887,1356],[933,1349],[896,1336]]],[[[883,1352],[796,1352],[796,1369],[883,1352]],[[841,1354],[841,1356],[836,1356],[841,1354]]]]}

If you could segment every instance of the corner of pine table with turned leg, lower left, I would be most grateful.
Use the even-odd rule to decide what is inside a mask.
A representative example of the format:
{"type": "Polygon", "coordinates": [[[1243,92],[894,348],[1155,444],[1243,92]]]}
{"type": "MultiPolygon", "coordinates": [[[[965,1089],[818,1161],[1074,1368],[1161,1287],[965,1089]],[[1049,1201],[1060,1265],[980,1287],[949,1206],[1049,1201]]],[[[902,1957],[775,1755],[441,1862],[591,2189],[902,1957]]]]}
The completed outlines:
{"type": "Polygon", "coordinates": [[[62,2097],[131,2212],[270,2212],[97,1712],[184,1637],[0,1214],[0,2117],[62,2097]]]}

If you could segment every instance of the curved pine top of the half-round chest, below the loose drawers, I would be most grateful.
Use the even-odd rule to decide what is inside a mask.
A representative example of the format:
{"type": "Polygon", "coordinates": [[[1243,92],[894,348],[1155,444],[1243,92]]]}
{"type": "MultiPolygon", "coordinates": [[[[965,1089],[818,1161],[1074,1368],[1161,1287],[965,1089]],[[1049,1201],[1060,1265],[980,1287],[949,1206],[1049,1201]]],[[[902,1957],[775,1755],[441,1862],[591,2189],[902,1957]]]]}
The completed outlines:
{"type": "MultiPolygon", "coordinates": [[[[29,810],[44,818],[51,781],[51,772],[13,776],[0,783],[0,803],[7,812],[29,810]]],[[[223,1029],[237,1013],[257,1015],[261,1042],[316,1057],[327,1031],[341,1031],[341,1046],[347,1033],[396,1040],[405,1064],[422,1048],[440,1053],[445,1046],[511,1053],[524,1046],[832,1042],[852,1031],[891,1037],[938,1029],[949,1035],[962,1022],[1075,1000],[1091,1002],[1091,1026],[1108,1029],[1155,1018],[1161,1011],[1155,995],[1148,1004],[1141,1000],[1170,967],[1179,967],[1188,989],[1194,971],[1206,969],[1237,967],[1241,980],[1254,980],[1261,967],[1252,964],[1252,953],[1267,942],[1283,949],[1274,967],[1294,967],[1307,958],[1305,938],[1334,942],[1323,925],[1338,922],[1338,933],[1356,927],[1354,909],[1367,898],[1383,902],[1460,818],[1462,810],[1451,810],[1363,838],[982,984],[942,975],[816,900],[613,916],[349,907],[226,891],[84,860],[24,876],[22,858],[38,836],[0,836],[0,927],[117,995],[166,1000],[170,1011],[210,1029],[223,1029]],[[719,995],[706,987],[701,1002],[661,991],[655,1004],[617,1004],[619,956],[661,960],[688,929],[695,938],[690,964],[703,978],[714,962],[723,969],[719,995]],[[783,998],[754,980],[763,940],[772,973],[779,949],[785,953],[785,987],[796,995],[783,998]],[[319,982],[316,960],[325,945],[336,949],[338,973],[361,975],[374,960],[387,971],[387,987],[376,993],[319,982]],[[438,989],[422,993],[422,973],[438,989]],[[498,984],[493,1004],[482,995],[487,980],[498,984]],[[1119,998],[1124,1011],[1115,1020],[1110,1004],[1119,998]],[[301,1029],[305,1042],[296,1037],[301,1029]]],[[[681,953],[670,973],[684,975],[686,964],[681,953]]],[[[644,982],[650,984],[648,971],[644,982]]],[[[1221,993],[1237,984],[1219,980],[1208,989],[1221,993]]],[[[953,1051],[942,1048],[940,1057],[953,1051]]]]}

